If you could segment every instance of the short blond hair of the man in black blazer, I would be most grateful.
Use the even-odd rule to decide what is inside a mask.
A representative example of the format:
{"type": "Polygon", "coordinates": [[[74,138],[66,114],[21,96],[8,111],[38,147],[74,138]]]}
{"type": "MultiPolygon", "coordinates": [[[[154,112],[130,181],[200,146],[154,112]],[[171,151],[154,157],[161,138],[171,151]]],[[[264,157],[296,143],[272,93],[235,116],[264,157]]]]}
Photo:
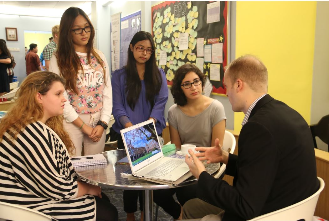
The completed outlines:
{"type": "Polygon", "coordinates": [[[244,55],[232,61],[225,69],[229,69],[232,83],[237,79],[246,82],[255,92],[267,92],[267,69],[263,62],[253,55],[244,55]]]}

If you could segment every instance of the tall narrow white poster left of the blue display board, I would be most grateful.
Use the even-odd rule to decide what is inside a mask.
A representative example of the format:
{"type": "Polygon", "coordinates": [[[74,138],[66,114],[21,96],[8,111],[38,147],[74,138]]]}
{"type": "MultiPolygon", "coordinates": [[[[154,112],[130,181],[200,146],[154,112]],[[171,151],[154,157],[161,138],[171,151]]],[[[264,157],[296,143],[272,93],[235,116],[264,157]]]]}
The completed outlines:
{"type": "Polygon", "coordinates": [[[121,12],[111,16],[111,70],[120,67],[120,25],[121,12]]]}

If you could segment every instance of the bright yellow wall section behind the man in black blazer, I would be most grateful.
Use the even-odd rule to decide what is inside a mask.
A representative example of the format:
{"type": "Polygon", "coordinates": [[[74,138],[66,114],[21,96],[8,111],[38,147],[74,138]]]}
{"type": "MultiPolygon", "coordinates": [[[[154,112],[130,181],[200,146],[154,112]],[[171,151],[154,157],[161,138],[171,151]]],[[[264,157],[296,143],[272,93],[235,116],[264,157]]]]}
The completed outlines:
{"type": "MultiPolygon", "coordinates": [[[[238,1],[236,19],[236,57],[259,57],[268,70],[268,93],[310,124],[316,2],[238,1]]],[[[235,113],[234,130],[243,117],[235,113]]]]}

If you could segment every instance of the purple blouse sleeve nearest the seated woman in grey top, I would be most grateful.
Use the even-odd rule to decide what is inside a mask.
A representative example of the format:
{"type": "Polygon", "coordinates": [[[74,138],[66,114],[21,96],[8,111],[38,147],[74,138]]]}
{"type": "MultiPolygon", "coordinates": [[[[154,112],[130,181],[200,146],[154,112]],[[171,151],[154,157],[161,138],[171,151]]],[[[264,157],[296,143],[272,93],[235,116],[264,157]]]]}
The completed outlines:
{"type": "Polygon", "coordinates": [[[155,96],[154,106],[152,108],[150,117],[155,118],[157,121],[159,121],[161,127],[165,128],[164,108],[168,100],[168,86],[163,69],[160,69],[160,74],[162,77],[162,85],[159,94],[155,96]]]}

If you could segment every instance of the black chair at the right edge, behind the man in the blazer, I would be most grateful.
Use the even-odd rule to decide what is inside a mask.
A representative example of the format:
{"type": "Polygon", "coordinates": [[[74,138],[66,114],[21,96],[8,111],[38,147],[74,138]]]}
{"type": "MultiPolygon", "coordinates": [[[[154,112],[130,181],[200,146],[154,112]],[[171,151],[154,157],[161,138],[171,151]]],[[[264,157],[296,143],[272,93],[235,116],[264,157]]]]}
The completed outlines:
{"type": "MultiPolygon", "coordinates": [[[[317,124],[310,125],[314,147],[317,148],[315,137],[317,136],[324,143],[328,144],[329,142],[329,115],[326,115],[321,118],[317,124]]],[[[329,152],[329,146],[328,146],[329,152]]]]}

